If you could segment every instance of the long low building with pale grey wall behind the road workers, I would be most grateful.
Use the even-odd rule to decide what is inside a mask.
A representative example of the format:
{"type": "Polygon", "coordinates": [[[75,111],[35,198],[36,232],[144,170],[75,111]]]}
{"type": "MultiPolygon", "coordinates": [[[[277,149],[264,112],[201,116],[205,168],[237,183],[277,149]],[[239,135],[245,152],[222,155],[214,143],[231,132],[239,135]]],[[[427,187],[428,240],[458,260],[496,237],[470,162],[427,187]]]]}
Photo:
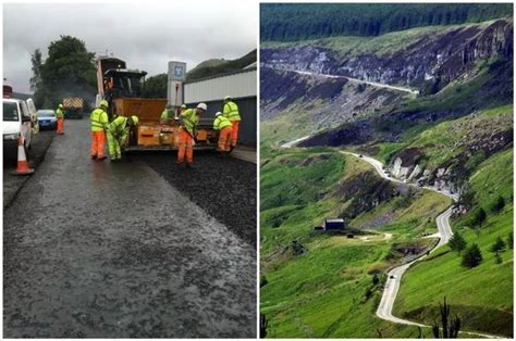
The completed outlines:
{"type": "Polygon", "coordinates": [[[257,142],[257,70],[251,64],[237,72],[184,84],[184,103],[193,108],[199,102],[208,104],[202,118],[213,118],[222,111],[223,99],[231,96],[242,117],[239,143],[256,148],[257,142]]]}

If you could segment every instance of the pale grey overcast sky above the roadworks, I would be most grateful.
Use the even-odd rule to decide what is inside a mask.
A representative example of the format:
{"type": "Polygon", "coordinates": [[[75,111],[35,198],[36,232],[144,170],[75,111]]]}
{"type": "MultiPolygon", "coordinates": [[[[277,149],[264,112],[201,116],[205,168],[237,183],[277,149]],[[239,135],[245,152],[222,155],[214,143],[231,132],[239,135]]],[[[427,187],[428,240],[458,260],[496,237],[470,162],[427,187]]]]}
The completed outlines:
{"type": "Polygon", "coordinates": [[[88,51],[106,50],[128,68],[167,72],[171,60],[187,68],[212,58],[235,59],[256,48],[255,1],[139,1],[130,3],[3,4],[3,77],[16,92],[29,92],[30,54],[44,59],[50,41],[71,35],[88,51]]]}

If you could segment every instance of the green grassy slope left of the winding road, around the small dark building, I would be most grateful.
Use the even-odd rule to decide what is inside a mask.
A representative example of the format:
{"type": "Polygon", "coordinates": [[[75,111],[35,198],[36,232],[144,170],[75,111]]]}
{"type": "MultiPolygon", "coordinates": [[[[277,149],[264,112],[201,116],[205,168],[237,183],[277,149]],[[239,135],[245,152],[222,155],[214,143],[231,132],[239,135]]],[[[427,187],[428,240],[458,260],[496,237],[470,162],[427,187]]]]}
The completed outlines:
{"type": "MultiPolygon", "coordinates": [[[[309,166],[300,164],[317,154],[312,150],[263,154],[271,161],[261,171],[261,202],[262,207],[271,209],[261,212],[261,274],[268,285],[261,288],[260,306],[269,319],[269,337],[372,338],[379,337],[379,332],[384,337],[415,337],[414,327],[377,318],[380,291],[377,288],[365,301],[365,290],[371,285],[372,271],[392,265],[386,260],[392,245],[410,241],[422,230],[433,228],[434,231],[434,225],[429,227],[427,223],[449,202],[432,193],[416,195],[408,206],[397,209],[394,224],[381,228],[394,235],[386,241],[374,236],[364,242],[312,232],[314,225],[339,210],[332,190],[341,175],[341,180],[346,181],[371,169],[353,156],[332,150],[323,152],[332,156],[309,166]],[[324,180],[318,180],[315,174],[324,180]],[[283,205],[273,206],[279,193],[283,195],[283,205]],[[314,200],[315,197],[322,198],[314,200]],[[279,227],[272,227],[278,224],[279,227]],[[297,240],[308,252],[294,256],[285,251],[292,240],[297,240]]],[[[379,206],[378,212],[359,215],[354,222],[367,222],[382,215],[384,210],[394,210],[397,201],[391,200],[379,206]]]]}

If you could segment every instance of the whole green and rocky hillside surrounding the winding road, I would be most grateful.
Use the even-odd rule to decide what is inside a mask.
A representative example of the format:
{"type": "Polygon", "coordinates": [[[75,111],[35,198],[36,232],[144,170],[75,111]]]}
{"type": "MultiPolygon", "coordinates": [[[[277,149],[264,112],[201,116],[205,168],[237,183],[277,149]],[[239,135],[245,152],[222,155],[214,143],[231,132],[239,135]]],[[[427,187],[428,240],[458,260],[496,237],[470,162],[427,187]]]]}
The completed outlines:
{"type": "Polygon", "coordinates": [[[491,251],[514,227],[512,4],[262,4],[261,15],[267,337],[432,338],[376,316],[386,271],[437,243],[435,217],[452,204],[405,180],[459,194],[452,228],[483,261],[467,268],[441,247],[403,276],[393,314],[433,325],[446,298],[462,331],[512,338],[513,249],[491,251]],[[281,148],[308,135],[304,148],[281,148]],[[382,161],[401,184],[344,151],[382,161]],[[315,230],[327,217],[354,237],[315,230]]]}

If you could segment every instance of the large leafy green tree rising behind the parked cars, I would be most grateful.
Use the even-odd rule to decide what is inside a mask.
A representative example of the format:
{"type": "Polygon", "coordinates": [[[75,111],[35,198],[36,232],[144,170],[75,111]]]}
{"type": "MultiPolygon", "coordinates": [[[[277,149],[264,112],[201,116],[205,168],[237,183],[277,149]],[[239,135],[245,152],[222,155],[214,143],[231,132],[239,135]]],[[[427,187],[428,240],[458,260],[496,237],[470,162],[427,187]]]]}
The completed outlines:
{"type": "Polygon", "coordinates": [[[40,67],[41,86],[36,98],[48,99],[52,106],[67,96],[82,97],[86,101],[95,98],[95,53],[86,50],[84,41],[72,36],[60,36],[50,42],[48,58],[40,67]]]}

